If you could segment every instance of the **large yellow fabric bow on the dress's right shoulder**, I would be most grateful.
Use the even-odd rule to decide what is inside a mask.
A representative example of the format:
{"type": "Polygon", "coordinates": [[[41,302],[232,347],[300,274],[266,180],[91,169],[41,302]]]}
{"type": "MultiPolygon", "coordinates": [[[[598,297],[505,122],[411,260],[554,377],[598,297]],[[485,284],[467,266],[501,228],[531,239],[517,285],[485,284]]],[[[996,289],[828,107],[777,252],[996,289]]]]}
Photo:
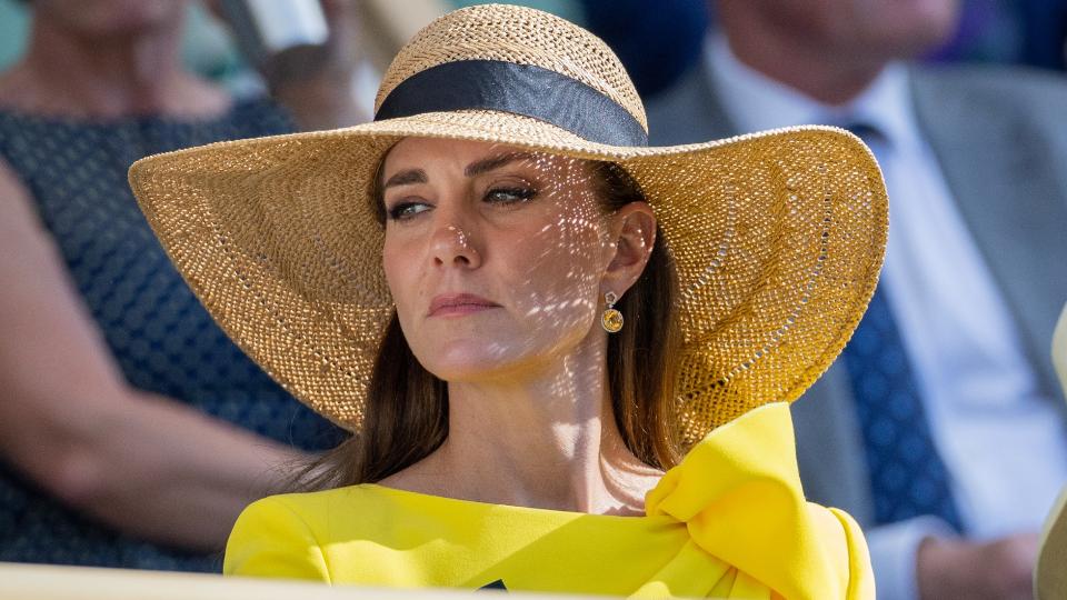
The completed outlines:
{"type": "Polygon", "coordinates": [[[709,433],[648,493],[646,514],[686,523],[695,546],[724,563],[719,579],[734,580],[716,584],[715,593],[875,597],[859,526],[804,499],[786,403],[759,407],[709,433]]]}

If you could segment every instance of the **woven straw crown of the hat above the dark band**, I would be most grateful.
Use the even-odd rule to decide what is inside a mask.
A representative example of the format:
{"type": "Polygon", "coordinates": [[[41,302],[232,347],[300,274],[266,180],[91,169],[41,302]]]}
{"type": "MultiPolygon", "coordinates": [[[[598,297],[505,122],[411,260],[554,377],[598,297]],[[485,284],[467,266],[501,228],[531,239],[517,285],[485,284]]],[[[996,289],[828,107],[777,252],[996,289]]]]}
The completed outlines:
{"type": "Polygon", "coordinates": [[[648,131],[634,82],[600,38],[555,14],[511,4],[468,7],[422,28],[389,64],[375,111],[408,78],[463,60],[511,62],[564,74],[610,98],[648,131]]]}

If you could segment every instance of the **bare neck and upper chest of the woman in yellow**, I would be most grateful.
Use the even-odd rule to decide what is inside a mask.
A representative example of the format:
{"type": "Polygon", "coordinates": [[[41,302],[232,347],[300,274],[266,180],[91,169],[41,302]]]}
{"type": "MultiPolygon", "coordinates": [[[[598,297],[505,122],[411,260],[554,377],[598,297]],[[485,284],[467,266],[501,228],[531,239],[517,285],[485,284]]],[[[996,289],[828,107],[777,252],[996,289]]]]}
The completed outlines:
{"type": "Polygon", "coordinates": [[[421,484],[413,488],[499,504],[644,513],[645,493],[661,473],[622,441],[602,350],[507,382],[449,383],[448,392],[448,439],[417,466],[421,484]]]}

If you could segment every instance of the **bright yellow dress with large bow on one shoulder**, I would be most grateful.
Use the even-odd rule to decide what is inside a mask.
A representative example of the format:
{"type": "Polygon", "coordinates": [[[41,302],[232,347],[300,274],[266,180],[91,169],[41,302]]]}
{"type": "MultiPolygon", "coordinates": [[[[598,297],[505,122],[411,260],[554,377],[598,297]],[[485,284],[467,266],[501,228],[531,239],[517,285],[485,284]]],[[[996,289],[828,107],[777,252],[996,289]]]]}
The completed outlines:
{"type": "Polygon", "coordinates": [[[376,484],[275,496],[238,519],[225,572],[402,588],[635,598],[874,598],[859,527],[804,500],[786,404],[716,429],[645,517],[488,504],[376,484]]]}

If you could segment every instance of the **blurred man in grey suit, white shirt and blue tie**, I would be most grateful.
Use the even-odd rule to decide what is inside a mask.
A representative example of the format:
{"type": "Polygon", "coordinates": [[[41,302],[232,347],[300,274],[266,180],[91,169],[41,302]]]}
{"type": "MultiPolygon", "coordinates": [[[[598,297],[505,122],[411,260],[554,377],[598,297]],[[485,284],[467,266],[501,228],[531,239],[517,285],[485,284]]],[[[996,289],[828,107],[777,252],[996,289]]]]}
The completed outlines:
{"type": "Polygon", "coordinates": [[[1067,298],[1067,83],[903,62],[953,36],[953,0],[714,9],[697,67],[650,102],[654,143],[837,124],[889,190],[878,293],[796,404],[805,491],[867,527],[879,598],[1029,598],[1067,480],[1048,359],[1067,298]]]}

